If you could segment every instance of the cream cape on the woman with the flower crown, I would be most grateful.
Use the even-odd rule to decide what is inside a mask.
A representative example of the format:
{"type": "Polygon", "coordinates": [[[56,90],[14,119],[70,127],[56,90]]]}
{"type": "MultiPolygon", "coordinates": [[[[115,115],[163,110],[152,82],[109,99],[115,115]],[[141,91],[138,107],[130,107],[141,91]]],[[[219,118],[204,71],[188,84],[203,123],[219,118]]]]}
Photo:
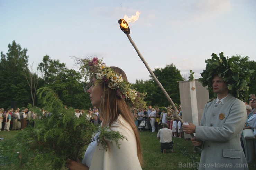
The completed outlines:
{"type": "Polygon", "coordinates": [[[107,141],[109,146],[107,151],[99,144],[93,153],[90,170],[141,170],[136,138],[131,126],[122,116],[118,116],[110,129],[119,131],[127,140],[119,139],[120,149],[115,142],[107,141]]]}

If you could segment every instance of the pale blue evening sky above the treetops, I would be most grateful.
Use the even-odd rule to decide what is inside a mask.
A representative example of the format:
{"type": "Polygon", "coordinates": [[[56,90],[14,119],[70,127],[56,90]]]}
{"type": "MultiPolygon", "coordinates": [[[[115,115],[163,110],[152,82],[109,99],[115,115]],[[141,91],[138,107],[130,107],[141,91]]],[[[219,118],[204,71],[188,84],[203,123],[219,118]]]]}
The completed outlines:
{"type": "Polygon", "coordinates": [[[78,71],[70,56],[97,56],[122,68],[131,83],[149,79],[118,20],[140,12],[131,38],[149,67],[174,64],[200,78],[212,53],[256,60],[255,0],[0,0],[0,51],[13,40],[34,69],[43,56],[78,71]]]}

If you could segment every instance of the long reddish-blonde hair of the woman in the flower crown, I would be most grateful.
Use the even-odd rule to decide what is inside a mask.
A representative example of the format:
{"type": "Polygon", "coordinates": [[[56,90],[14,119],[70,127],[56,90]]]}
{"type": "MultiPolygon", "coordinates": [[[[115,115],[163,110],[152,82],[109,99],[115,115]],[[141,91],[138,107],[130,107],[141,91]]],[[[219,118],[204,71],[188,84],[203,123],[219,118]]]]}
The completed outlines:
{"type": "MultiPolygon", "coordinates": [[[[123,78],[127,81],[127,77],[125,72],[119,67],[111,67],[114,71],[118,72],[119,75],[122,74],[123,78]]],[[[103,118],[102,127],[105,127],[107,124],[111,126],[111,124],[117,120],[119,114],[130,124],[132,127],[136,143],[137,143],[137,156],[140,164],[143,164],[142,153],[141,153],[141,145],[139,139],[139,133],[137,127],[134,123],[134,118],[131,114],[130,107],[126,104],[126,102],[116,95],[116,90],[108,88],[107,85],[102,84],[103,95],[100,104],[100,114],[103,118]]]]}

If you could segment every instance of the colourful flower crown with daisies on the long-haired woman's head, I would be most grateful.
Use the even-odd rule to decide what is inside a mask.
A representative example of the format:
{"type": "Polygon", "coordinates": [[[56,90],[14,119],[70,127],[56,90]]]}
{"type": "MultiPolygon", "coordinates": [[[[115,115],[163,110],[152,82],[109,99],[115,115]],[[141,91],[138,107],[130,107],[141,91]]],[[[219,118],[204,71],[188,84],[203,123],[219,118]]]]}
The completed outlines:
{"type": "Polygon", "coordinates": [[[81,59],[81,61],[82,66],[80,69],[87,80],[94,76],[97,79],[95,84],[104,83],[110,89],[116,90],[117,96],[125,100],[130,107],[146,107],[146,103],[143,100],[146,94],[132,89],[131,84],[124,80],[122,74],[119,75],[118,72],[107,67],[105,63],[102,63],[102,59],[94,57],[92,59],[81,59]]]}

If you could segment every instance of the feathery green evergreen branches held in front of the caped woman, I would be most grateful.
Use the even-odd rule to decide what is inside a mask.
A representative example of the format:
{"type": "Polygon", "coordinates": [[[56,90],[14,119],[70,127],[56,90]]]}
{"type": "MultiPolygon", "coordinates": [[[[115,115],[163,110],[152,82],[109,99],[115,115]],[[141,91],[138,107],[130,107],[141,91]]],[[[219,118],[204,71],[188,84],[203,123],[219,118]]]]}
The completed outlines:
{"type": "MultiPolygon", "coordinates": [[[[106,139],[117,143],[124,140],[118,132],[109,128],[96,127],[83,114],[75,116],[72,107],[65,108],[53,90],[48,87],[38,89],[39,99],[45,109],[51,112],[47,117],[38,113],[35,127],[27,127],[20,131],[14,140],[1,143],[1,154],[8,156],[9,161],[19,169],[40,169],[38,166],[49,166],[49,169],[62,169],[67,159],[82,160],[92,135],[101,131],[96,139],[107,149],[106,139]]],[[[38,108],[30,108],[34,112],[38,108]]]]}

